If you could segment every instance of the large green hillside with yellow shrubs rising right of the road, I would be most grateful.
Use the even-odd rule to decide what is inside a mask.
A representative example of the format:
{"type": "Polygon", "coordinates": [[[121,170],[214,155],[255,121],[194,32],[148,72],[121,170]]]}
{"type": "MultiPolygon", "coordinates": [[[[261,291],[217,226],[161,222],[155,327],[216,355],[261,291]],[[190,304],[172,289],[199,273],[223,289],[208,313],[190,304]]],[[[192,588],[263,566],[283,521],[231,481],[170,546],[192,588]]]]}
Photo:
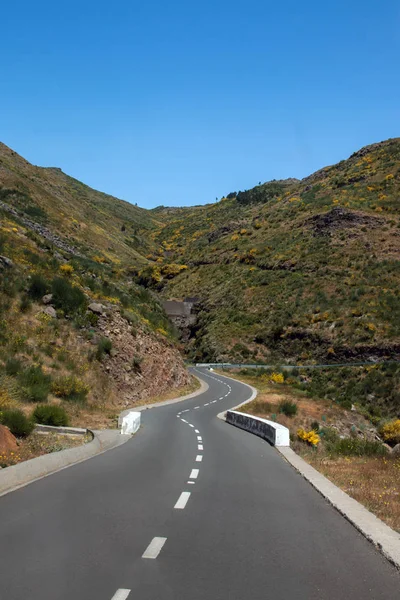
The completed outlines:
{"type": "Polygon", "coordinates": [[[164,225],[142,281],[169,299],[200,299],[194,358],[399,358],[399,139],[302,181],[153,214],[164,225]],[[171,262],[179,267],[169,278],[161,270],[171,262]]]}

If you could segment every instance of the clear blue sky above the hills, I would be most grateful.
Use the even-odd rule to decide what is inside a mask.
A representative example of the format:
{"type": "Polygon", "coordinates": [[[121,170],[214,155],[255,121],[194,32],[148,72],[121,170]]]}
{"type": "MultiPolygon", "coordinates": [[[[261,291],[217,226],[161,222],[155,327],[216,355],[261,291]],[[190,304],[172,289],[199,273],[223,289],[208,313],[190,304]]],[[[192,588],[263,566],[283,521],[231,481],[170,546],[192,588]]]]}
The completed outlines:
{"type": "Polygon", "coordinates": [[[3,3],[0,140],[140,206],[400,135],[398,0],[3,3]]]}

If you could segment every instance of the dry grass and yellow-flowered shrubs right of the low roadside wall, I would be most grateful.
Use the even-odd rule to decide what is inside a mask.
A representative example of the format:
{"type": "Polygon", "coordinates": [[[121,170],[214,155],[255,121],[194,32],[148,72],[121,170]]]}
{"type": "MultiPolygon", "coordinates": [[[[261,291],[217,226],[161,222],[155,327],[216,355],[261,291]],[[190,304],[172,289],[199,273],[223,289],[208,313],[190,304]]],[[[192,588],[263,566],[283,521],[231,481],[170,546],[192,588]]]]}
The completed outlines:
{"type": "MultiPolygon", "coordinates": [[[[386,403],[382,403],[379,417],[376,411],[371,415],[365,405],[357,403],[360,393],[354,394],[350,405],[346,394],[338,398],[326,394],[328,381],[340,387],[341,377],[348,385],[353,381],[354,389],[358,389],[360,368],[347,368],[345,373],[344,379],[340,367],[318,373],[317,369],[293,372],[277,368],[229,372],[259,390],[257,398],[242,406],[241,411],[288,427],[295,452],[400,531],[400,415],[395,415],[392,405],[385,410],[386,403]],[[283,406],[296,409],[287,414],[283,406]]],[[[393,374],[392,370],[389,373],[393,374]]],[[[363,376],[367,377],[368,371],[363,376]]],[[[383,389],[383,398],[385,394],[383,389]]]]}

